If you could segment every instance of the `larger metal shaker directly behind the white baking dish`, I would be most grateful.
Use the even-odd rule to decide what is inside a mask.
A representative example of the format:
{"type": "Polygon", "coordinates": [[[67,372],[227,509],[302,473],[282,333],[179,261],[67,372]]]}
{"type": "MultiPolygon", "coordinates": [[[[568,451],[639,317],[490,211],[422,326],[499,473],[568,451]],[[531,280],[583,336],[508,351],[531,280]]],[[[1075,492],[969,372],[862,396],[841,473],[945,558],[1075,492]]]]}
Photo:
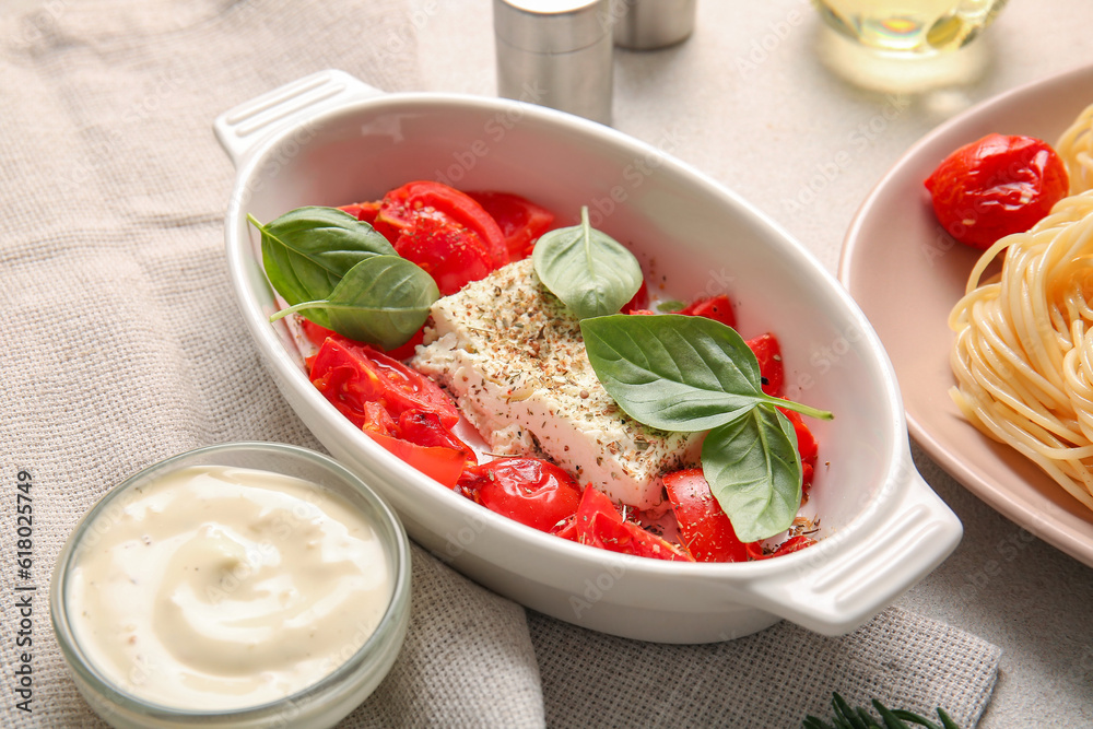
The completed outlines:
{"type": "Polygon", "coordinates": [[[611,124],[610,0],[494,0],[497,95],[611,124]]]}

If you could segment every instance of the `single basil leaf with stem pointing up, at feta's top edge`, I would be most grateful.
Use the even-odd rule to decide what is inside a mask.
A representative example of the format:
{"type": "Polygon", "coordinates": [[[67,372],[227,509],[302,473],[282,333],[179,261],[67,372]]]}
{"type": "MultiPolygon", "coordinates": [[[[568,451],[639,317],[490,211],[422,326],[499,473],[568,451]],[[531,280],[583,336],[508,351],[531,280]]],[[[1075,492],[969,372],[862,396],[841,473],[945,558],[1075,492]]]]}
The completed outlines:
{"type": "Polygon", "coordinates": [[[642,267],[634,254],[588,223],[544,233],[531,254],[536,273],[578,319],[615,314],[642,287],[642,267]]]}

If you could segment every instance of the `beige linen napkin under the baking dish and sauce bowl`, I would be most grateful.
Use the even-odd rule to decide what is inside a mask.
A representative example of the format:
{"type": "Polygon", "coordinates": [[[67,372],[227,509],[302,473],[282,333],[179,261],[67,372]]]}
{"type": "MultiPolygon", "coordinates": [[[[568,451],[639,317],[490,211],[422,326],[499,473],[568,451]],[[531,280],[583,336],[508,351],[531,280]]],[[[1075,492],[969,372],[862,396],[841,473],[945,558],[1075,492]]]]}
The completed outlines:
{"type": "MultiPolygon", "coordinates": [[[[483,12],[489,3],[483,2],[483,12]]],[[[52,639],[49,576],[113,484],[228,440],[319,448],[237,315],[222,221],[234,169],[216,114],[340,68],[416,84],[403,0],[16,0],[0,17],[0,724],[101,726],[52,639]],[[14,484],[32,475],[33,565],[15,564],[14,484]],[[15,587],[34,586],[31,648],[15,587]],[[33,655],[33,699],[12,670],[33,655]]],[[[791,625],[716,646],[588,634],[414,551],[413,613],[390,677],[350,727],[799,726],[839,690],[952,709],[972,727],[998,649],[893,610],[830,639],[791,625]]]]}

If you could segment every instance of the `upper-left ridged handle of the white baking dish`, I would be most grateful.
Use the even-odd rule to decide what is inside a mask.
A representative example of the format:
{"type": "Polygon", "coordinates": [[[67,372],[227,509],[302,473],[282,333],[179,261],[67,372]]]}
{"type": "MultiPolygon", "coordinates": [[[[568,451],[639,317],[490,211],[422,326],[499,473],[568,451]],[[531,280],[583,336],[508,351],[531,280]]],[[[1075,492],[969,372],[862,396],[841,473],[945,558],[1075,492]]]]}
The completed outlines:
{"type": "Polygon", "coordinates": [[[344,71],[328,69],[286,83],[216,117],[213,131],[236,167],[259,142],[304,116],[384,92],[344,71]]]}

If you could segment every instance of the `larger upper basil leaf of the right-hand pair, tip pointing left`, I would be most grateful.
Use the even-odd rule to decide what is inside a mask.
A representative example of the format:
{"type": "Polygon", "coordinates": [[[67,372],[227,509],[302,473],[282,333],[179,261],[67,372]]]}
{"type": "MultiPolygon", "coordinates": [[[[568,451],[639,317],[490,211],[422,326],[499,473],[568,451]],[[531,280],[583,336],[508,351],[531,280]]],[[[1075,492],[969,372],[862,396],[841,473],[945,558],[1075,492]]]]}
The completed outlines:
{"type": "Polygon", "coordinates": [[[707,431],[771,399],[755,354],[719,321],[618,315],[585,319],[580,332],[604,389],[626,414],[651,427],[707,431]]]}

